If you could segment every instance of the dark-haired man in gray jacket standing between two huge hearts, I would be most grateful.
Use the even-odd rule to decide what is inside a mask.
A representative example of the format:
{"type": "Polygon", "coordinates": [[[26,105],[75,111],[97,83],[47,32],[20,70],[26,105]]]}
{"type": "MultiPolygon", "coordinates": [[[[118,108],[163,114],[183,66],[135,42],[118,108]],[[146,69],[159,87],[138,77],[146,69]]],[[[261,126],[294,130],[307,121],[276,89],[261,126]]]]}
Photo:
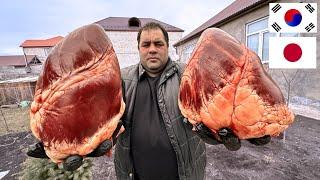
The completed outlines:
{"type": "Polygon", "coordinates": [[[168,33],[148,23],[137,40],[140,63],[121,71],[126,110],[115,150],[117,178],[203,179],[205,145],[178,108],[183,65],[168,57],[168,33]]]}

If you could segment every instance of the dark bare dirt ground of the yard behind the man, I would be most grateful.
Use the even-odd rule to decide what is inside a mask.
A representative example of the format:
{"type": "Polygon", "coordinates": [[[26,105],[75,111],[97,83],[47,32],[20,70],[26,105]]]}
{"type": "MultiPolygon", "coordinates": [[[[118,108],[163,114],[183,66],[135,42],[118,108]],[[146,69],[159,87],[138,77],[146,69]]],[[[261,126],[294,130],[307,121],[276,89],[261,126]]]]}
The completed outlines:
{"type": "MultiPolygon", "coordinates": [[[[26,148],[35,142],[27,131],[27,110],[17,111],[24,114],[24,119],[13,118],[14,122],[8,122],[9,134],[0,118],[3,123],[0,126],[0,172],[10,170],[5,180],[18,178],[26,148]]],[[[10,112],[6,113],[9,116],[10,112]]],[[[320,179],[319,144],[320,121],[297,116],[286,131],[285,141],[273,138],[262,147],[243,141],[242,148],[236,152],[227,151],[223,145],[208,145],[206,179],[317,180],[320,179]]],[[[93,164],[94,180],[115,179],[112,157],[94,158],[93,164]]]]}

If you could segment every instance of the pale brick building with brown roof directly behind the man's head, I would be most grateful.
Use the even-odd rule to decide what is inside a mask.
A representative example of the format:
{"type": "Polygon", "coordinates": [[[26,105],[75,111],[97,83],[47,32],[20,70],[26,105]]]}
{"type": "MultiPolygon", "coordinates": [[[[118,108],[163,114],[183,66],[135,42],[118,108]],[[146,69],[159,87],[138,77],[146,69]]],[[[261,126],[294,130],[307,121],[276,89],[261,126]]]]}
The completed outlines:
{"type": "Polygon", "coordinates": [[[108,17],[95,22],[101,25],[110,38],[117,54],[120,67],[127,67],[139,62],[137,34],[139,29],[148,22],[161,24],[169,35],[169,56],[177,60],[173,47],[182,38],[183,30],[152,18],[108,17]]]}

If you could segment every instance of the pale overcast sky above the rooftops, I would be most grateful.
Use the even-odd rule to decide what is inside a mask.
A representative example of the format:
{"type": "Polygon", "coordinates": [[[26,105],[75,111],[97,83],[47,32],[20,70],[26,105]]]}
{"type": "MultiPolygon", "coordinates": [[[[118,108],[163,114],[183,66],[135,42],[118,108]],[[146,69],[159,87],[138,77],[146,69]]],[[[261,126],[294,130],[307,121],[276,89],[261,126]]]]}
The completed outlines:
{"type": "Polygon", "coordinates": [[[107,17],[154,18],[185,30],[183,36],[234,0],[10,0],[0,3],[0,55],[22,54],[26,39],[66,36],[107,17]]]}

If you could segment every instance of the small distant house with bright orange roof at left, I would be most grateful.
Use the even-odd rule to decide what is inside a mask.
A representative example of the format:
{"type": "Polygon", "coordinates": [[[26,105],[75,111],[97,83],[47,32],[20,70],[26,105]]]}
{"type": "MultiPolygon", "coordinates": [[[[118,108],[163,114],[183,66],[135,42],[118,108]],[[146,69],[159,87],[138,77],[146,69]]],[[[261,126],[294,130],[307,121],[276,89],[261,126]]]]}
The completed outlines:
{"type": "Polygon", "coordinates": [[[36,55],[41,62],[44,62],[52,48],[62,39],[62,36],[56,36],[49,39],[25,40],[20,47],[25,55],[36,55]]]}

